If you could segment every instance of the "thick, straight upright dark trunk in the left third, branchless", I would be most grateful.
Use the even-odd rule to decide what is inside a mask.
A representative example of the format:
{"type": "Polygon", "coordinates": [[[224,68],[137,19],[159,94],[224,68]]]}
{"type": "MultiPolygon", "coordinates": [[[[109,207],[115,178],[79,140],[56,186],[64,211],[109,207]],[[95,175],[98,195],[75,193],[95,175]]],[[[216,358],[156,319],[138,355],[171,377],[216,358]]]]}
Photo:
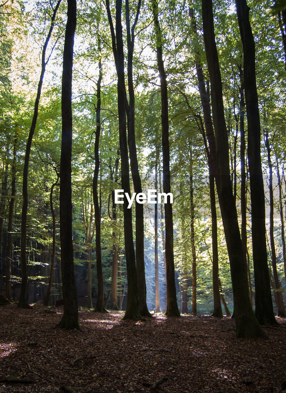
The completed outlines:
{"type": "Polygon", "coordinates": [[[62,77],[62,141],[60,169],[60,239],[64,313],[57,327],[79,329],[74,248],[72,243],[72,63],[76,31],[76,0],[68,0],[62,77]]]}

